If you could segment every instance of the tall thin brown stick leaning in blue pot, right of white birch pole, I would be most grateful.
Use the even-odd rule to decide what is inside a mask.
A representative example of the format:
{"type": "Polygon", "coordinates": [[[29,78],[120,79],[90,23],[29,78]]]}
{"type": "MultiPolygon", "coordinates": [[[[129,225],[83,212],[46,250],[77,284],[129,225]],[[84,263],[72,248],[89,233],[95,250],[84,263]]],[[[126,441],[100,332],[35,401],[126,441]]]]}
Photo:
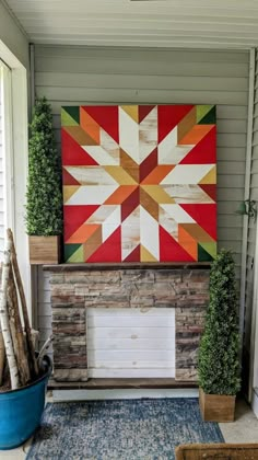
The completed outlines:
{"type": "Polygon", "coordinates": [[[20,299],[21,299],[22,313],[23,313],[23,320],[24,320],[24,329],[25,329],[25,332],[26,332],[27,353],[28,353],[28,357],[30,357],[28,361],[32,364],[32,378],[35,378],[35,377],[38,376],[38,365],[37,365],[37,360],[36,360],[36,356],[35,356],[35,348],[34,348],[33,338],[32,338],[32,330],[31,330],[31,324],[30,324],[28,314],[27,314],[26,298],[25,298],[23,284],[22,284],[22,278],[21,278],[21,274],[20,274],[20,269],[19,269],[19,265],[17,265],[16,251],[15,251],[13,234],[12,234],[11,229],[8,229],[8,239],[11,242],[11,245],[10,245],[11,262],[12,262],[12,267],[13,267],[13,272],[14,272],[15,281],[16,281],[16,285],[17,285],[19,296],[20,296],[20,299]]]}

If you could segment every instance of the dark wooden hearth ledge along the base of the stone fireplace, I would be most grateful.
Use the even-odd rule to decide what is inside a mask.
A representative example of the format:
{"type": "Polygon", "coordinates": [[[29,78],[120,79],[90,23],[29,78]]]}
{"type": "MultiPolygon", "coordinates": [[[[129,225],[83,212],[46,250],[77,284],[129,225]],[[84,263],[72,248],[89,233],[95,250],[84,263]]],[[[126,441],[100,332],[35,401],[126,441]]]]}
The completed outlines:
{"type": "Polygon", "coordinates": [[[196,382],[176,381],[175,379],[89,379],[86,382],[57,382],[49,380],[48,388],[57,389],[82,389],[87,390],[112,390],[116,388],[197,388],[196,382]]]}

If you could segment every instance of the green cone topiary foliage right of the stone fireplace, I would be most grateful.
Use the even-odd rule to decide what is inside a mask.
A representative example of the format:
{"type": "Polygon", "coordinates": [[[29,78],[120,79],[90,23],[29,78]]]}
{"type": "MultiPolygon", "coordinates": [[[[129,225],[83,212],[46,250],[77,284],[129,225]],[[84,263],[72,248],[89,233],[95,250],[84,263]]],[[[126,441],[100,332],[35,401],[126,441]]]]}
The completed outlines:
{"type": "Polygon", "coordinates": [[[234,395],[241,388],[238,302],[232,253],[212,263],[210,303],[199,348],[199,384],[208,394],[234,395]]]}

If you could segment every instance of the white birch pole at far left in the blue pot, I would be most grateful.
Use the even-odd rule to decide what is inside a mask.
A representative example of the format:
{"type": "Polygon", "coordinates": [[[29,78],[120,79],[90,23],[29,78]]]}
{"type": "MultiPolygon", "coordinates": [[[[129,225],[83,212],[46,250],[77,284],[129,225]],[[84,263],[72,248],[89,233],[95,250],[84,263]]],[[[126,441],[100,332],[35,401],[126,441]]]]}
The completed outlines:
{"type": "Polygon", "coordinates": [[[16,359],[13,349],[12,336],[10,331],[9,324],[9,315],[8,315],[8,279],[10,273],[10,260],[11,260],[11,245],[12,241],[7,238],[5,249],[3,253],[3,265],[2,265],[2,283],[1,283],[1,291],[0,291],[0,322],[1,322],[1,330],[2,336],[4,342],[4,347],[7,352],[7,360],[9,364],[10,369],[10,377],[11,377],[11,386],[12,390],[19,388],[19,371],[16,359]]]}

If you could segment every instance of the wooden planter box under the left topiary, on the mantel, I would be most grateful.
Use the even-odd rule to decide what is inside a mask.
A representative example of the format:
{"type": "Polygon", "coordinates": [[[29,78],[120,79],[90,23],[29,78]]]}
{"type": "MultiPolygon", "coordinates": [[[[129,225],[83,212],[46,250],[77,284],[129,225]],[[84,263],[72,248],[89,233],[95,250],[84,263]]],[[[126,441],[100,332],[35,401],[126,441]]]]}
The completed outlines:
{"type": "Polygon", "coordinates": [[[31,265],[56,265],[60,262],[60,237],[28,237],[31,265]]]}

